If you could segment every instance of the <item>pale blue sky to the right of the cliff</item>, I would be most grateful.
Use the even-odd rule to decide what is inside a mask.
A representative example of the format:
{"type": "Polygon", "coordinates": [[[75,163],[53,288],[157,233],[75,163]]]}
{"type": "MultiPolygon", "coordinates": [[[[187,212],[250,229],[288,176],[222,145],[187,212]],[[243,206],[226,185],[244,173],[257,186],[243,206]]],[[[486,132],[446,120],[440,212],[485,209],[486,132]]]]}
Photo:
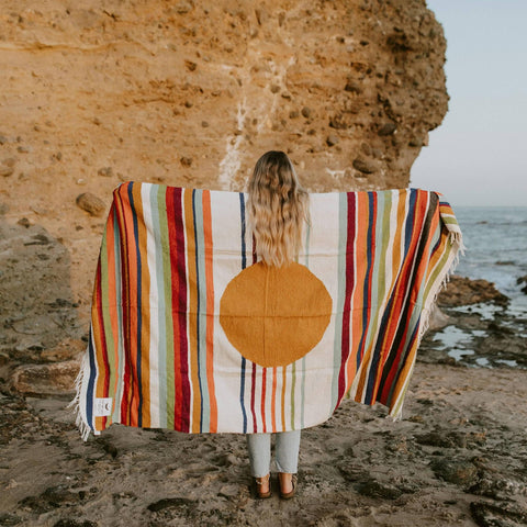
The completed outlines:
{"type": "Polygon", "coordinates": [[[452,206],[527,206],[527,0],[427,0],[447,37],[449,110],[411,186],[452,206]]]}

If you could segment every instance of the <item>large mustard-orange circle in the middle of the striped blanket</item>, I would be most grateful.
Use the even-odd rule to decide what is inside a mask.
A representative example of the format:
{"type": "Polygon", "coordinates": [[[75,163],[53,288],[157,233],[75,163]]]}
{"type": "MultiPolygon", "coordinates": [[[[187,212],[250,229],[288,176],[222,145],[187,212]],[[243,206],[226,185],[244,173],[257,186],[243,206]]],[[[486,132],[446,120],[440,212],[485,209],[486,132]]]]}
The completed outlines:
{"type": "Polygon", "coordinates": [[[322,339],[332,316],[332,298],[305,266],[244,269],[220,301],[220,324],[231,344],[265,368],[304,357],[322,339]]]}

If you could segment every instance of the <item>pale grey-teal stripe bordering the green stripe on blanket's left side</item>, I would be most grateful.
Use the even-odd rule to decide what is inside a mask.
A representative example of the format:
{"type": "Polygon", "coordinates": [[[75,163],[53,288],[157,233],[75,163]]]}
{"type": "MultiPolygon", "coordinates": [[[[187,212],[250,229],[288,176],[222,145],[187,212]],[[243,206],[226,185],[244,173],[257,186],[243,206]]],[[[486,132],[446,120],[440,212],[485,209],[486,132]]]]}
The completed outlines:
{"type": "MultiPolygon", "coordinates": [[[[159,210],[165,208],[165,191],[162,187],[150,187],[150,210],[152,224],[154,228],[154,246],[156,256],[156,277],[157,277],[157,324],[158,324],[158,348],[150,349],[150,354],[157,354],[158,361],[158,384],[159,384],[159,426],[167,427],[167,335],[165,330],[166,318],[166,299],[165,299],[165,269],[162,262],[161,227],[159,221],[159,210]]],[[[162,211],[166,212],[165,210],[162,211]]],[[[152,321],[155,323],[155,321],[152,321]]]]}

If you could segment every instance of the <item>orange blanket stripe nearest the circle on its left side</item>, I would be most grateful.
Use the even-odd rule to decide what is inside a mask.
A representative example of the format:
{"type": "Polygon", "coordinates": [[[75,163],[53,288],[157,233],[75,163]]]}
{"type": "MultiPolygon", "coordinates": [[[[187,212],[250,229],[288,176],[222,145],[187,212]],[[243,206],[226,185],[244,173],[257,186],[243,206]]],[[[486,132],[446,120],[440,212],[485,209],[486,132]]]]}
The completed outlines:
{"type": "Polygon", "coordinates": [[[210,431],[217,430],[217,403],[214,391],[214,282],[212,269],[212,214],[211,193],[203,191],[203,238],[205,245],[206,283],[206,382],[209,385],[210,431]]]}

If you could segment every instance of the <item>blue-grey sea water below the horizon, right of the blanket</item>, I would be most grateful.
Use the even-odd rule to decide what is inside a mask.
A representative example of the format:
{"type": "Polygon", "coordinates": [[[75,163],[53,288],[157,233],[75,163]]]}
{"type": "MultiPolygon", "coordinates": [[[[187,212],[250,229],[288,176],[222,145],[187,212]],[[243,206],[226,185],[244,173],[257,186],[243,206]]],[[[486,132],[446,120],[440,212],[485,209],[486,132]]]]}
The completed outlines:
{"type": "Polygon", "coordinates": [[[456,217],[467,247],[456,274],[494,282],[511,299],[509,311],[527,313],[527,206],[459,206],[456,217]]]}

